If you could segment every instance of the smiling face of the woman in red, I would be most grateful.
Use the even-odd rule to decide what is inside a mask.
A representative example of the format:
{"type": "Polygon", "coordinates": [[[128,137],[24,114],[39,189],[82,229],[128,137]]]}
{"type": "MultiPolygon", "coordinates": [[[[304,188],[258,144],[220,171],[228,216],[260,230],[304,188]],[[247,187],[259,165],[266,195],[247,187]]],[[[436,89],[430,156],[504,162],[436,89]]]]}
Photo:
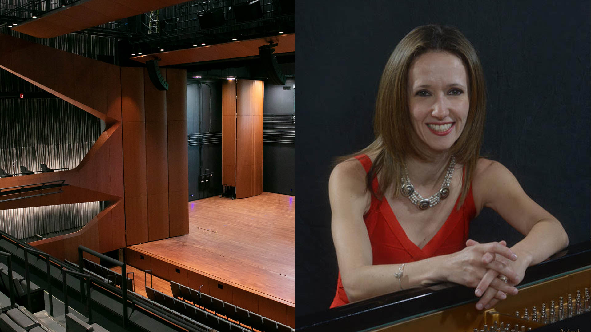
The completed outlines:
{"type": "Polygon", "coordinates": [[[470,108],[467,73],[460,58],[430,51],[408,70],[408,106],[419,144],[428,153],[451,148],[470,108]]]}

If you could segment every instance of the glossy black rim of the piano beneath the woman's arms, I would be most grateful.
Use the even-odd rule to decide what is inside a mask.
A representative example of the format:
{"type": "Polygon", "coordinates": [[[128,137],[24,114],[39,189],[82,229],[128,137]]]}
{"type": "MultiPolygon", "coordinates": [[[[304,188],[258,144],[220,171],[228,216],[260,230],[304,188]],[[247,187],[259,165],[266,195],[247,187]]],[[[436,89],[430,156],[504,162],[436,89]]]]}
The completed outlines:
{"type": "MultiPolygon", "coordinates": [[[[568,246],[550,259],[530,266],[517,288],[557,278],[591,265],[591,242],[568,246]]],[[[472,288],[445,283],[428,288],[405,289],[354,302],[321,313],[296,318],[297,331],[363,331],[478,301],[472,288]]]]}

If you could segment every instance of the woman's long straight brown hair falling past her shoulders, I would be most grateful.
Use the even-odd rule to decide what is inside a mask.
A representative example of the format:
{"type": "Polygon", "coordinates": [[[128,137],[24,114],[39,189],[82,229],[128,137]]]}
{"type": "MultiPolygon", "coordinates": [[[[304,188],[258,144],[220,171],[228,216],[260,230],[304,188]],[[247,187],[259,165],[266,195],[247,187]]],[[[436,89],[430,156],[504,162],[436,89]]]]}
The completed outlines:
{"type": "MultiPolygon", "coordinates": [[[[394,196],[400,194],[404,158],[414,155],[422,160],[428,156],[418,149],[413,139],[410,110],[408,108],[408,70],[413,61],[428,51],[444,51],[462,60],[467,71],[470,109],[466,126],[450,152],[456,161],[465,165],[462,185],[462,206],[472,183],[472,177],[480,154],[486,111],[484,74],[476,50],[455,27],[421,25],[408,32],[392,52],[379,82],[376,98],[374,132],[375,141],[358,154],[377,154],[367,175],[367,187],[377,197],[392,186],[394,196]],[[374,192],[372,180],[379,174],[379,189],[374,192]]],[[[345,160],[353,155],[343,157],[345,160]]]]}

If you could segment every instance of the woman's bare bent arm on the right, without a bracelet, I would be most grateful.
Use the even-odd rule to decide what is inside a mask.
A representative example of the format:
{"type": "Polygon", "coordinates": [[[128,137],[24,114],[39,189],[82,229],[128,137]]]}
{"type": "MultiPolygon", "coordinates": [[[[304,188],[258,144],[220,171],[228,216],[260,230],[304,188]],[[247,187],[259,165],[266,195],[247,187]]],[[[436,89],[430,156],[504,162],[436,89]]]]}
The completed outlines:
{"type": "MultiPolygon", "coordinates": [[[[528,266],[544,261],[569,244],[568,236],[560,222],[527,196],[514,175],[499,162],[479,160],[473,180],[473,193],[479,210],[482,207],[490,207],[518,232],[525,235],[524,239],[511,247],[511,250],[517,253],[517,261],[497,259],[518,272],[518,281],[513,284],[521,282],[528,266]]],[[[493,256],[485,255],[483,259],[485,262],[490,261],[493,256]]],[[[486,307],[486,304],[489,307],[496,304],[495,300],[491,301],[495,291],[486,289],[488,282],[497,275],[494,271],[488,272],[476,288],[477,295],[478,292],[484,294],[477,308],[479,304],[482,307],[486,307]]]]}

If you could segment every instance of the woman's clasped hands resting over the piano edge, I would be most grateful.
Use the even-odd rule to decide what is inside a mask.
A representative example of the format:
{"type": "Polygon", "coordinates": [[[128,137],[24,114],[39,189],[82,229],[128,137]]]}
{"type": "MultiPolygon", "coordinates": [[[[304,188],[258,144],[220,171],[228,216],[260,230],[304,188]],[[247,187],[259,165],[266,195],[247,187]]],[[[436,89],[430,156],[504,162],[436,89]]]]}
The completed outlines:
{"type": "Polygon", "coordinates": [[[475,288],[475,295],[480,297],[478,310],[493,307],[507,294],[517,294],[514,286],[521,282],[527,268],[505,241],[481,244],[467,240],[466,248],[452,255],[447,280],[475,288]]]}

